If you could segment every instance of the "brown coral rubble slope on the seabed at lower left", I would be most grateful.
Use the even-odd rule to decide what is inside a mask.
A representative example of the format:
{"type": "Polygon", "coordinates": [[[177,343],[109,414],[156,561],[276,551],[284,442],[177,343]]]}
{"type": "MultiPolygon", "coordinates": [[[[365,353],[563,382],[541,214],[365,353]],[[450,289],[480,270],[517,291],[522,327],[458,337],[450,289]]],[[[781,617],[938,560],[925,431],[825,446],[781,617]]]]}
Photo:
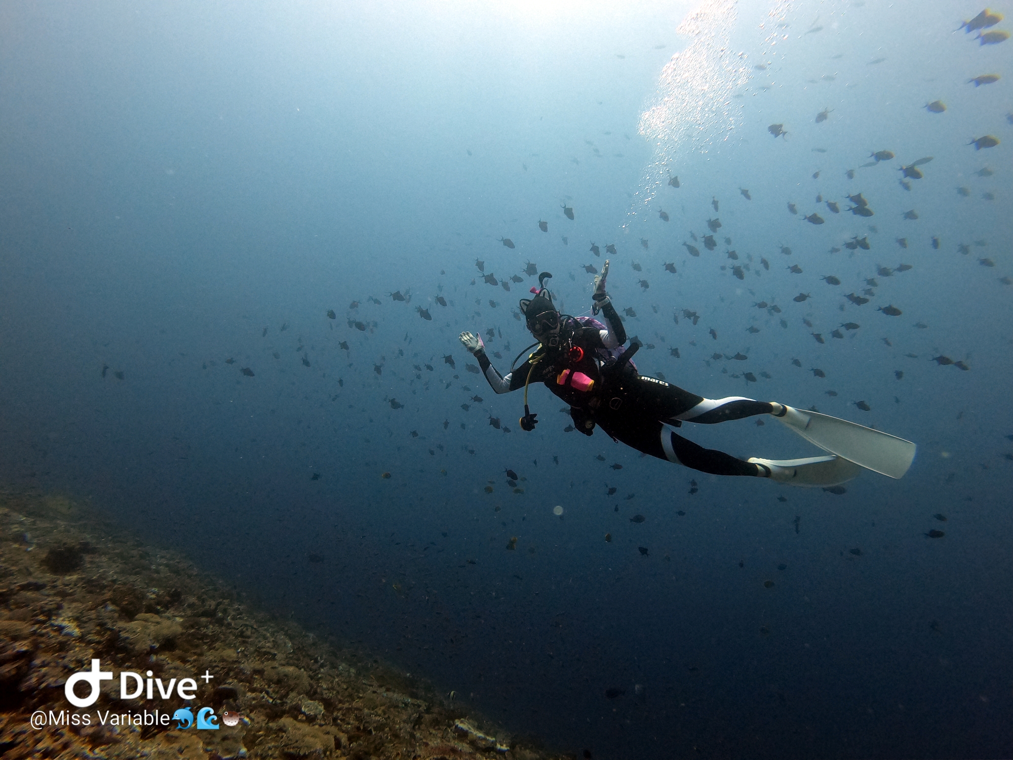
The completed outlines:
{"type": "Polygon", "coordinates": [[[65,497],[11,493],[0,493],[0,755],[550,757],[479,728],[415,679],[252,609],[184,557],[124,536],[65,497]],[[32,729],[37,710],[124,712],[111,677],[93,705],[67,701],[68,677],[92,659],[103,670],[138,673],[138,683],[145,674],[159,679],[159,688],[196,679],[192,700],[141,693],[126,709],[208,706],[219,730],[94,718],[32,729]],[[199,677],[206,673],[213,678],[199,677]]]}

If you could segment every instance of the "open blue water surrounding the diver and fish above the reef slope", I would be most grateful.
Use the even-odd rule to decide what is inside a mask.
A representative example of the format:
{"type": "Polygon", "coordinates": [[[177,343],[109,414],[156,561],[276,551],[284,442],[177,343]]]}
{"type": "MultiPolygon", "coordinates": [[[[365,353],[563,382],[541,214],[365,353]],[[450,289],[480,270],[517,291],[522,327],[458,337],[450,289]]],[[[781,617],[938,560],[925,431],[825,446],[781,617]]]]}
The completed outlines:
{"type": "MultiPolygon", "coordinates": [[[[707,7],[694,36],[683,2],[7,3],[4,486],[90,504],[550,747],[1008,756],[1013,43],[954,32],[981,10],[955,2],[707,7]],[[984,135],[1001,144],[967,145],[984,135]],[[859,192],[873,217],[847,213],[859,192]],[[690,234],[714,217],[708,251],[690,234]],[[508,293],[476,259],[497,280],[534,261],[586,314],[592,243],[617,247],[642,372],[888,431],[919,445],[911,470],[843,495],[722,479],[564,432],[540,386],[522,432],[520,394],[469,373],[457,335],[505,372],[535,279],[508,293]]],[[[817,453],[754,422],[682,433],[817,453]]]]}

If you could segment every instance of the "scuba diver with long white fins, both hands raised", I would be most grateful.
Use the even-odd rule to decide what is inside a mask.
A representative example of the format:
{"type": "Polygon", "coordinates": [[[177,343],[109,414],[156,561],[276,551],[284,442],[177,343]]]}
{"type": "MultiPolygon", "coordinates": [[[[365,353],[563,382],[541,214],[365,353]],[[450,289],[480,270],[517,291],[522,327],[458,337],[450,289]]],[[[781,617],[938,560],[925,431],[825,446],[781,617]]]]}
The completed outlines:
{"type": "MultiPolygon", "coordinates": [[[[560,314],[543,272],[534,298],[521,300],[535,351],[504,376],[485,354],[481,335],[464,331],[460,340],[474,355],[496,393],[524,388],[521,428],[533,431],[537,413],[528,406],[528,385],[541,382],[570,407],[574,429],[586,436],[599,427],[613,440],[644,454],[715,475],[749,475],[803,486],[831,486],[855,477],[861,467],[901,477],[911,466],[915,444],[845,420],[802,411],[777,401],[744,396],[710,399],[671,383],[640,375],[630,361],[638,344],[624,349],[626,330],[606,292],[609,261],[595,277],[594,317],[560,314]],[[711,425],[771,414],[829,455],[807,459],[738,459],[705,449],[675,432],[683,423],[711,425]]],[[[529,348],[533,348],[529,347],[529,348]]],[[[527,351],[527,349],[525,349],[527,351]]],[[[521,352],[523,355],[524,352],[521,352]]],[[[518,356],[520,359],[520,355],[518,356]]],[[[515,363],[517,359],[514,360],[515,363]]]]}

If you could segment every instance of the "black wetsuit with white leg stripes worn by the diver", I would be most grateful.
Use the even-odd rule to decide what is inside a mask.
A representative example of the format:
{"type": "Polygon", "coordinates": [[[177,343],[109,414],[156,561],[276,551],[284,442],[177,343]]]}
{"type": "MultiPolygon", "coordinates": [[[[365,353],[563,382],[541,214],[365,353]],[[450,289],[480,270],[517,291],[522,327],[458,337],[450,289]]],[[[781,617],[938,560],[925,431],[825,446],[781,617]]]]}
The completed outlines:
{"type": "Polygon", "coordinates": [[[614,365],[622,355],[626,331],[611,303],[606,304],[602,314],[607,325],[587,317],[564,317],[559,345],[542,345],[505,377],[496,371],[482,349],[475,352],[475,359],[496,393],[523,388],[529,382],[529,374],[531,383],[544,383],[570,405],[574,428],[586,435],[592,435],[598,425],[612,438],[637,451],[702,472],[762,474],[756,464],[723,451],[705,449],[672,428],[684,422],[709,425],[769,414],[774,407],[766,401],[743,396],[704,398],[640,375],[632,364],[616,370],[614,365]],[[564,375],[566,370],[570,373],[564,375]],[[574,379],[580,378],[577,373],[594,381],[589,390],[573,387],[574,379]]]}

